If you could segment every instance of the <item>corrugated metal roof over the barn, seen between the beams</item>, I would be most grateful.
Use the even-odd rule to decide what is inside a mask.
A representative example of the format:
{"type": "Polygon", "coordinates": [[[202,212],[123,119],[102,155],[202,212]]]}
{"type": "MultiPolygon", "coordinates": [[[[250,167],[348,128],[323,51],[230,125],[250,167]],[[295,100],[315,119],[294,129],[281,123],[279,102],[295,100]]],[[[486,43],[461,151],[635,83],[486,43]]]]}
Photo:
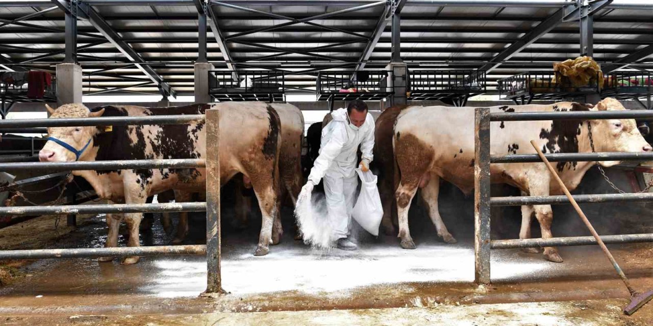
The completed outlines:
{"type": "MultiPolygon", "coordinates": [[[[165,3],[159,1],[164,3],[163,5],[148,5],[146,1],[135,1],[130,3],[131,5],[119,5],[119,1],[89,2],[136,52],[147,61],[161,63],[153,67],[180,95],[192,93],[192,64],[197,59],[198,36],[197,9],[192,1],[174,1],[174,5],[170,5],[172,4],[170,1],[165,3]],[[176,67],[170,68],[170,65],[165,66],[164,63],[175,64],[176,67]]],[[[306,5],[306,1],[294,3],[282,1],[282,5],[270,5],[269,1],[266,3],[227,2],[235,5],[246,3],[243,7],[271,12],[291,19],[302,19],[373,1],[310,1],[310,5],[306,5]]],[[[531,2],[522,1],[522,5],[528,7],[483,5],[442,7],[426,5],[424,1],[419,0],[408,1],[402,11],[402,57],[408,61],[409,67],[415,68],[419,67],[420,62],[427,61],[446,61],[450,68],[480,67],[557,10],[555,1],[549,1],[548,7],[531,6],[531,2]]],[[[48,1],[31,1],[31,4],[31,7],[25,5],[7,7],[0,3],[0,19],[5,22],[16,20],[52,7],[48,1]]],[[[212,10],[219,18],[217,25],[223,36],[227,38],[237,33],[288,22],[288,20],[219,5],[212,6],[212,10]]],[[[382,12],[383,6],[376,6],[315,20],[312,23],[370,37],[382,12]]],[[[612,62],[653,44],[653,33],[650,33],[653,30],[653,7],[651,10],[605,8],[596,12],[594,17],[594,57],[599,62],[612,62]]],[[[366,68],[383,68],[389,61],[390,28],[389,24],[370,56],[372,62],[368,63],[366,68]]],[[[8,61],[20,63],[38,58],[49,51],[61,52],[65,47],[63,29],[64,16],[60,10],[24,20],[20,25],[3,25],[0,27],[0,53],[8,61]]],[[[78,31],[100,35],[91,23],[84,20],[78,22],[78,31]]],[[[488,80],[496,80],[500,76],[509,76],[524,70],[548,69],[553,61],[576,57],[579,52],[578,31],[577,22],[560,23],[550,33],[490,72],[488,80]]],[[[80,35],[78,45],[83,46],[97,40],[97,38],[80,35]]],[[[329,67],[329,65],[342,64],[343,61],[355,63],[367,42],[366,38],[351,33],[326,30],[304,23],[244,35],[234,40],[278,48],[270,50],[252,44],[228,42],[227,48],[236,62],[282,53],[283,50],[307,52],[329,44],[350,42],[342,46],[310,51],[322,57],[288,53],[264,59],[267,61],[247,63],[247,67],[283,69],[285,67],[280,67],[279,61],[307,63],[310,60],[311,67],[304,67],[304,69],[329,67]],[[360,42],[353,42],[355,40],[360,42]],[[329,60],[323,56],[331,57],[332,62],[329,63],[329,60]]],[[[140,79],[147,80],[140,70],[133,67],[110,70],[101,76],[89,76],[89,72],[93,70],[119,67],[124,64],[121,62],[125,61],[125,58],[110,43],[79,50],[78,53],[82,55],[79,61],[85,73],[84,91],[97,91],[99,89],[94,87],[119,87],[139,83],[137,80],[140,79]]],[[[53,54],[50,57],[37,59],[26,67],[54,70],[54,65],[61,62],[63,57],[63,53],[53,54]]],[[[223,64],[223,56],[210,30],[208,31],[208,59],[214,62],[217,68],[227,68],[223,64]]],[[[653,63],[650,59],[645,62],[653,63]]],[[[296,70],[298,69],[302,67],[297,67],[296,70]]],[[[293,75],[289,76],[287,84],[308,87],[314,85],[314,82],[314,74],[293,75]]],[[[153,86],[139,87],[137,90],[157,92],[156,87],[153,86]]]]}

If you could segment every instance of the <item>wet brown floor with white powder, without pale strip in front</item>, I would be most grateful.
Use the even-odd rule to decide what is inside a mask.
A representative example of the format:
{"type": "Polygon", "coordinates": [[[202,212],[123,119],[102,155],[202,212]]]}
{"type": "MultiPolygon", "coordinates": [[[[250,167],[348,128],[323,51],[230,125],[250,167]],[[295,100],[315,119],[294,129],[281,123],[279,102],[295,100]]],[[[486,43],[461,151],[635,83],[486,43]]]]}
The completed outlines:
{"type": "MultiPolygon", "coordinates": [[[[445,244],[430,230],[416,230],[417,250],[400,248],[396,237],[361,235],[358,251],[324,252],[294,241],[287,228],[268,256],[255,257],[260,224],[254,219],[247,230],[235,231],[228,219],[224,222],[222,281],[228,295],[199,297],[206,288],[201,256],[142,258],[131,266],[117,259],[50,259],[23,267],[27,276],[0,288],[0,314],[192,314],[628,297],[595,246],[560,248],[564,263],[520,250],[494,250],[492,285],[477,287],[469,233],[457,236],[458,244],[445,244]]],[[[193,216],[185,243],[204,243],[203,226],[202,216],[193,216]]],[[[106,224],[97,216],[51,247],[100,247],[104,239],[106,224]]],[[[150,236],[142,237],[145,245],[170,240],[158,222],[150,236]]],[[[611,248],[635,287],[653,286],[651,244],[611,248]]]]}

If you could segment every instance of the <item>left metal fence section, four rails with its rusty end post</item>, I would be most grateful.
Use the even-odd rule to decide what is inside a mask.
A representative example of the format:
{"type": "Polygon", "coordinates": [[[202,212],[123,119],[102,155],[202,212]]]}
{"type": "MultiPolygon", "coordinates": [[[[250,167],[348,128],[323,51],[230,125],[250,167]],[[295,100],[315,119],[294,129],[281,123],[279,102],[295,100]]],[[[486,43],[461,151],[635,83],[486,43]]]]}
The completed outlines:
{"type": "Polygon", "coordinates": [[[206,292],[218,293],[220,284],[220,233],[219,233],[219,113],[207,110],[204,115],[157,115],[146,117],[96,117],[62,119],[24,119],[0,121],[0,129],[31,128],[43,126],[125,126],[125,125],[184,125],[205,123],[206,158],[169,160],[107,160],[89,162],[27,162],[0,163],[0,171],[15,170],[125,170],[159,168],[206,168],[206,202],[196,203],[142,203],[106,205],[63,205],[0,207],[0,216],[6,215],[65,215],[98,213],[143,212],[197,212],[206,211],[206,245],[148,246],[123,248],[75,248],[48,250],[2,250],[0,259],[35,258],[95,258],[102,256],[159,256],[204,255],[207,259],[206,292]]]}

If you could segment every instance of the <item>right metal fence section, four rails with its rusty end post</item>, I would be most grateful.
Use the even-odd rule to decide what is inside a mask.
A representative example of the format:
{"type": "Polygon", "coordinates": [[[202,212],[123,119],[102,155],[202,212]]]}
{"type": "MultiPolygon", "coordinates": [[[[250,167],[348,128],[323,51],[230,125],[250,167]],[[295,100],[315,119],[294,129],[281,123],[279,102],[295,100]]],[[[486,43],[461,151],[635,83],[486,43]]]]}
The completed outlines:
{"type": "MultiPolygon", "coordinates": [[[[530,113],[490,113],[489,108],[475,109],[474,158],[474,252],[475,281],[490,283],[490,250],[528,248],[534,246],[581,246],[595,244],[594,237],[551,237],[546,239],[490,239],[490,207],[518,205],[551,205],[569,203],[566,196],[490,196],[490,164],[541,162],[535,155],[490,155],[490,121],[543,121],[574,119],[634,119],[652,118],[653,111],[560,111],[530,113]]],[[[545,154],[555,162],[595,162],[603,160],[651,160],[653,153],[554,153],[545,154]]],[[[653,193],[574,195],[579,203],[607,203],[616,201],[653,200],[653,193]]],[[[653,233],[634,235],[605,235],[605,243],[653,242],[653,233]]]]}

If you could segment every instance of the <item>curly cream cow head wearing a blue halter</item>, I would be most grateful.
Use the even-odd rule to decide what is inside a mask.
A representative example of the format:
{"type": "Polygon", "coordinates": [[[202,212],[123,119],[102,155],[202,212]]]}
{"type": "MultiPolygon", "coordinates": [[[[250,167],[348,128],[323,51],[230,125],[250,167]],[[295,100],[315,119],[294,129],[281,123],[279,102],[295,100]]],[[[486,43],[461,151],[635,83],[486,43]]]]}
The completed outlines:
{"type": "MultiPolygon", "coordinates": [[[[50,119],[99,117],[104,109],[91,112],[84,104],[64,104],[56,110],[45,105],[50,112],[50,119]]],[[[97,134],[96,126],[57,126],[48,128],[48,141],[39,152],[41,162],[76,161],[93,147],[93,136],[97,134]]]]}

